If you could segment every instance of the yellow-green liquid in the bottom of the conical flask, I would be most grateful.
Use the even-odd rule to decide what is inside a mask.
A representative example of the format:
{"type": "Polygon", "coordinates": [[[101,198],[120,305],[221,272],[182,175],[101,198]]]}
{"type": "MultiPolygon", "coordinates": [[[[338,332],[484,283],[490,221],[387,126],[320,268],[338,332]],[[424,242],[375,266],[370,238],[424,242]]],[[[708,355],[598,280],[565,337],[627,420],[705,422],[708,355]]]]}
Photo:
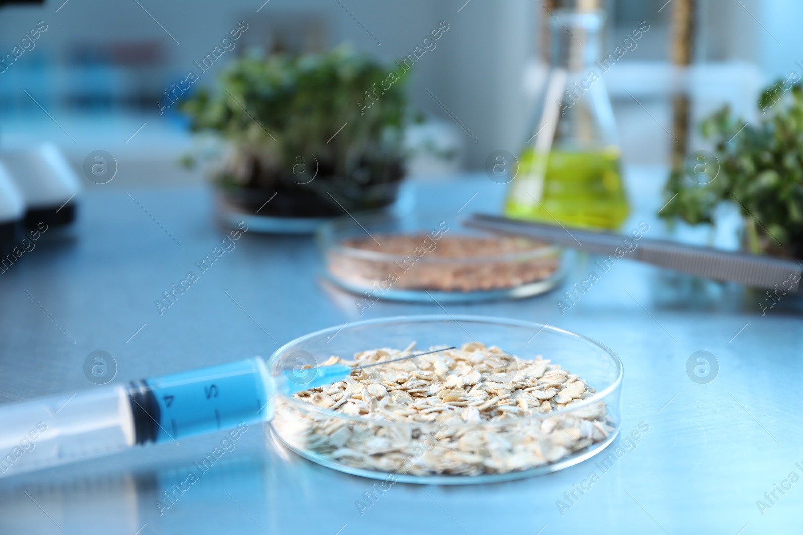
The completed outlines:
{"type": "MultiPolygon", "coordinates": [[[[519,172],[511,183],[505,205],[510,217],[534,219],[580,227],[615,229],[629,212],[618,148],[572,152],[553,149],[548,153],[540,198],[520,181],[532,178],[539,156],[527,148],[519,160],[519,172]]],[[[537,195],[537,188],[536,188],[537,195]]]]}

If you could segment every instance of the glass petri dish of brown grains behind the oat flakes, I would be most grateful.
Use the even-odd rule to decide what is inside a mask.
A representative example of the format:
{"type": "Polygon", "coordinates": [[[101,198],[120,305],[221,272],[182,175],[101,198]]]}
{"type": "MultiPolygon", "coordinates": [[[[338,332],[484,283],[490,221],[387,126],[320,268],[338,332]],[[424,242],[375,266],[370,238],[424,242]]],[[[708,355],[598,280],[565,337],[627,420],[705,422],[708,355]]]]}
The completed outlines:
{"type": "Polygon", "coordinates": [[[318,241],[324,277],[372,301],[527,298],[563,277],[555,245],[467,229],[437,213],[356,213],[323,225],[318,241]]]}

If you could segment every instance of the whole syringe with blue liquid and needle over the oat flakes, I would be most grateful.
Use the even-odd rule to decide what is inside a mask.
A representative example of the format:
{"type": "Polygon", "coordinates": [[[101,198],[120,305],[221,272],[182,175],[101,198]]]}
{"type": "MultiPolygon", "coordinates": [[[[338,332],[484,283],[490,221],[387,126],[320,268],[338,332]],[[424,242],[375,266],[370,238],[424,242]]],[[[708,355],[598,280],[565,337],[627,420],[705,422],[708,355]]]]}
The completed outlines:
{"type": "MultiPolygon", "coordinates": [[[[444,348],[400,359],[446,351],[444,348]]],[[[384,361],[361,367],[389,363],[384,361]]],[[[261,357],[128,385],[0,405],[0,477],[257,424],[273,418],[273,395],[344,379],[344,364],[283,370],[271,376],[261,357]]]]}

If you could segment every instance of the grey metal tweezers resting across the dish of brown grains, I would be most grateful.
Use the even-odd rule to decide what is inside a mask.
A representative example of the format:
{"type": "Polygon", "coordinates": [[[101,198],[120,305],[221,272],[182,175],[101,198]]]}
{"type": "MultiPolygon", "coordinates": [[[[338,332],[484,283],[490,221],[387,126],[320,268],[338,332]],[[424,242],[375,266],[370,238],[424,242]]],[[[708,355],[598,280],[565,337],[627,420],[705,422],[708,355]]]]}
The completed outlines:
{"type": "Polygon", "coordinates": [[[463,225],[495,233],[532,237],[589,253],[610,255],[617,248],[622,248],[628,251],[624,257],[631,260],[719,281],[739,282],[755,288],[780,289],[789,293],[796,293],[800,289],[803,274],[803,264],[793,259],[724,251],[646,237],[635,240],[625,234],[567,229],[563,226],[483,213],[473,214],[471,219],[463,221],[463,225]],[[633,245],[626,246],[629,243],[626,240],[637,244],[635,249],[632,249],[633,245]]]}

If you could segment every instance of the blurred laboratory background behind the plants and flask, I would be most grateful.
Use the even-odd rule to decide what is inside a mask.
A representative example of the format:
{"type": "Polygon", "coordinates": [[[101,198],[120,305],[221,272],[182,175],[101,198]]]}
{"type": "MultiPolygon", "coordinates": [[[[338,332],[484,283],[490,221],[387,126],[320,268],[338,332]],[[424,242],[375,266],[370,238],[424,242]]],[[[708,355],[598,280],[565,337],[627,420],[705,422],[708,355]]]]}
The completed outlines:
{"type": "MultiPolygon", "coordinates": [[[[107,151],[119,165],[107,187],[202,180],[200,169],[177,165],[191,144],[187,120],[175,107],[160,111],[160,103],[173,83],[198,71],[194,62],[238,22],[247,22],[247,32],[190,91],[212,86],[214,75],[249,48],[326,51],[348,42],[391,61],[410,54],[446,21],[448,32],[421,58],[410,80],[412,107],[427,122],[408,132],[408,144],[422,148],[408,172],[438,176],[480,170],[491,152],[518,153],[529,137],[525,133],[548,71],[545,28],[554,2],[470,0],[461,8],[463,2],[47,0],[6,5],[0,9],[2,55],[38,24],[46,29],[30,50],[2,64],[0,147],[50,141],[76,171],[90,152],[107,151]]],[[[605,73],[622,161],[667,166],[671,2],[603,4],[608,14],[603,55],[642,22],[650,28],[605,73]]],[[[786,78],[803,59],[794,56],[803,50],[797,29],[803,5],[703,0],[694,9],[691,124],[723,103],[749,119],[758,111],[760,89],[786,78]]]]}

